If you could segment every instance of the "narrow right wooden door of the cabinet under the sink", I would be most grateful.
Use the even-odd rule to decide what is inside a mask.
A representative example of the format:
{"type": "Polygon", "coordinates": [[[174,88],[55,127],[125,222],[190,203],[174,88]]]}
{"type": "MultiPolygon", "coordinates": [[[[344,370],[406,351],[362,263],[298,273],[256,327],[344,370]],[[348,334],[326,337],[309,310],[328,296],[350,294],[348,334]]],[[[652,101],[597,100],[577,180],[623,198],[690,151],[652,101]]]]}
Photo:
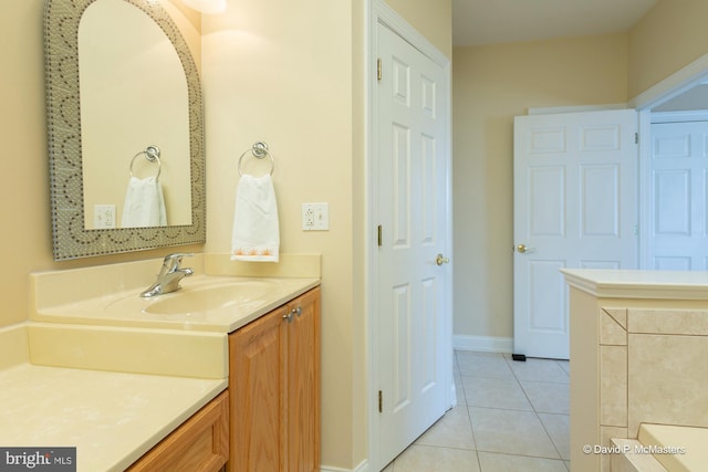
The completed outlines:
{"type": "Polygon", "coordinates": [[[320,289],[289,304],[288,471],[320,470],[320,289]]]}

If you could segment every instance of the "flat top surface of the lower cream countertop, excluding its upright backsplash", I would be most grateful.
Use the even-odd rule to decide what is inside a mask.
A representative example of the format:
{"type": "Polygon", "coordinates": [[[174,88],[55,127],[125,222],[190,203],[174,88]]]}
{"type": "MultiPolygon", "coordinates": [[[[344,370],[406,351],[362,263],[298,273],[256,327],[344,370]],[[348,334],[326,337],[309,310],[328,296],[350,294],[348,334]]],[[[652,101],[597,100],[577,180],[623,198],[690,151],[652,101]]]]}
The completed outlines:
{"type": "Polygon", "coordinates": [[[227,388],[226,379],[19,364],[0,370],[0,444],[76,447],[77,471],[123,471],[227,388]]]}

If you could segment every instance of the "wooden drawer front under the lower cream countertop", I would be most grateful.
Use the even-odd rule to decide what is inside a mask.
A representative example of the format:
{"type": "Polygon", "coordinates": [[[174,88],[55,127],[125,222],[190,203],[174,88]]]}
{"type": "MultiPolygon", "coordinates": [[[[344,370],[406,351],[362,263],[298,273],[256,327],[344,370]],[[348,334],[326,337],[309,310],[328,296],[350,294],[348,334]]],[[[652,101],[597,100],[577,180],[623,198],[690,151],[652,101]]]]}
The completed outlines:
{"type": "Polygon", "coordinates": [[[228,396],[225,391],[211,400],[127,471],[220,471],[229,457],[228,396]]]}

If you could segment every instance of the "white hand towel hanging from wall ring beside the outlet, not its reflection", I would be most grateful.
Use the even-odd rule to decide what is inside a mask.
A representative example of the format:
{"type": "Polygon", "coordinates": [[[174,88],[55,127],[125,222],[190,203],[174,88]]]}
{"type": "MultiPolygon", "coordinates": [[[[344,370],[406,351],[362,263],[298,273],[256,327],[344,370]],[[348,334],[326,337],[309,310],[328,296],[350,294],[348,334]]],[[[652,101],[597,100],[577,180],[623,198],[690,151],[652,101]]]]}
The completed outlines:
{"type": "Polygon", "coordinates": [[[270,175],[243,175],[236,191],[232,261],[278,262],[280,227],[270,175]]]}

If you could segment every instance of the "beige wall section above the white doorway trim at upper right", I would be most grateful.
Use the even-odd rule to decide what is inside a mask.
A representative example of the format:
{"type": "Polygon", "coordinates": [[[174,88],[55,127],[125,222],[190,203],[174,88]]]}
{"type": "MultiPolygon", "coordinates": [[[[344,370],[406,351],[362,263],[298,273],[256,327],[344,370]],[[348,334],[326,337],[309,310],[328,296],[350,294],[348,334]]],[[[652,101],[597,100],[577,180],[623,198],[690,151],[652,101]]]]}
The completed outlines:
{"type": "Polygon", "coordinates": [[[708,2],[659,0],[629,32],[628,95],[635,97],[708,53],[708,2]]]}

